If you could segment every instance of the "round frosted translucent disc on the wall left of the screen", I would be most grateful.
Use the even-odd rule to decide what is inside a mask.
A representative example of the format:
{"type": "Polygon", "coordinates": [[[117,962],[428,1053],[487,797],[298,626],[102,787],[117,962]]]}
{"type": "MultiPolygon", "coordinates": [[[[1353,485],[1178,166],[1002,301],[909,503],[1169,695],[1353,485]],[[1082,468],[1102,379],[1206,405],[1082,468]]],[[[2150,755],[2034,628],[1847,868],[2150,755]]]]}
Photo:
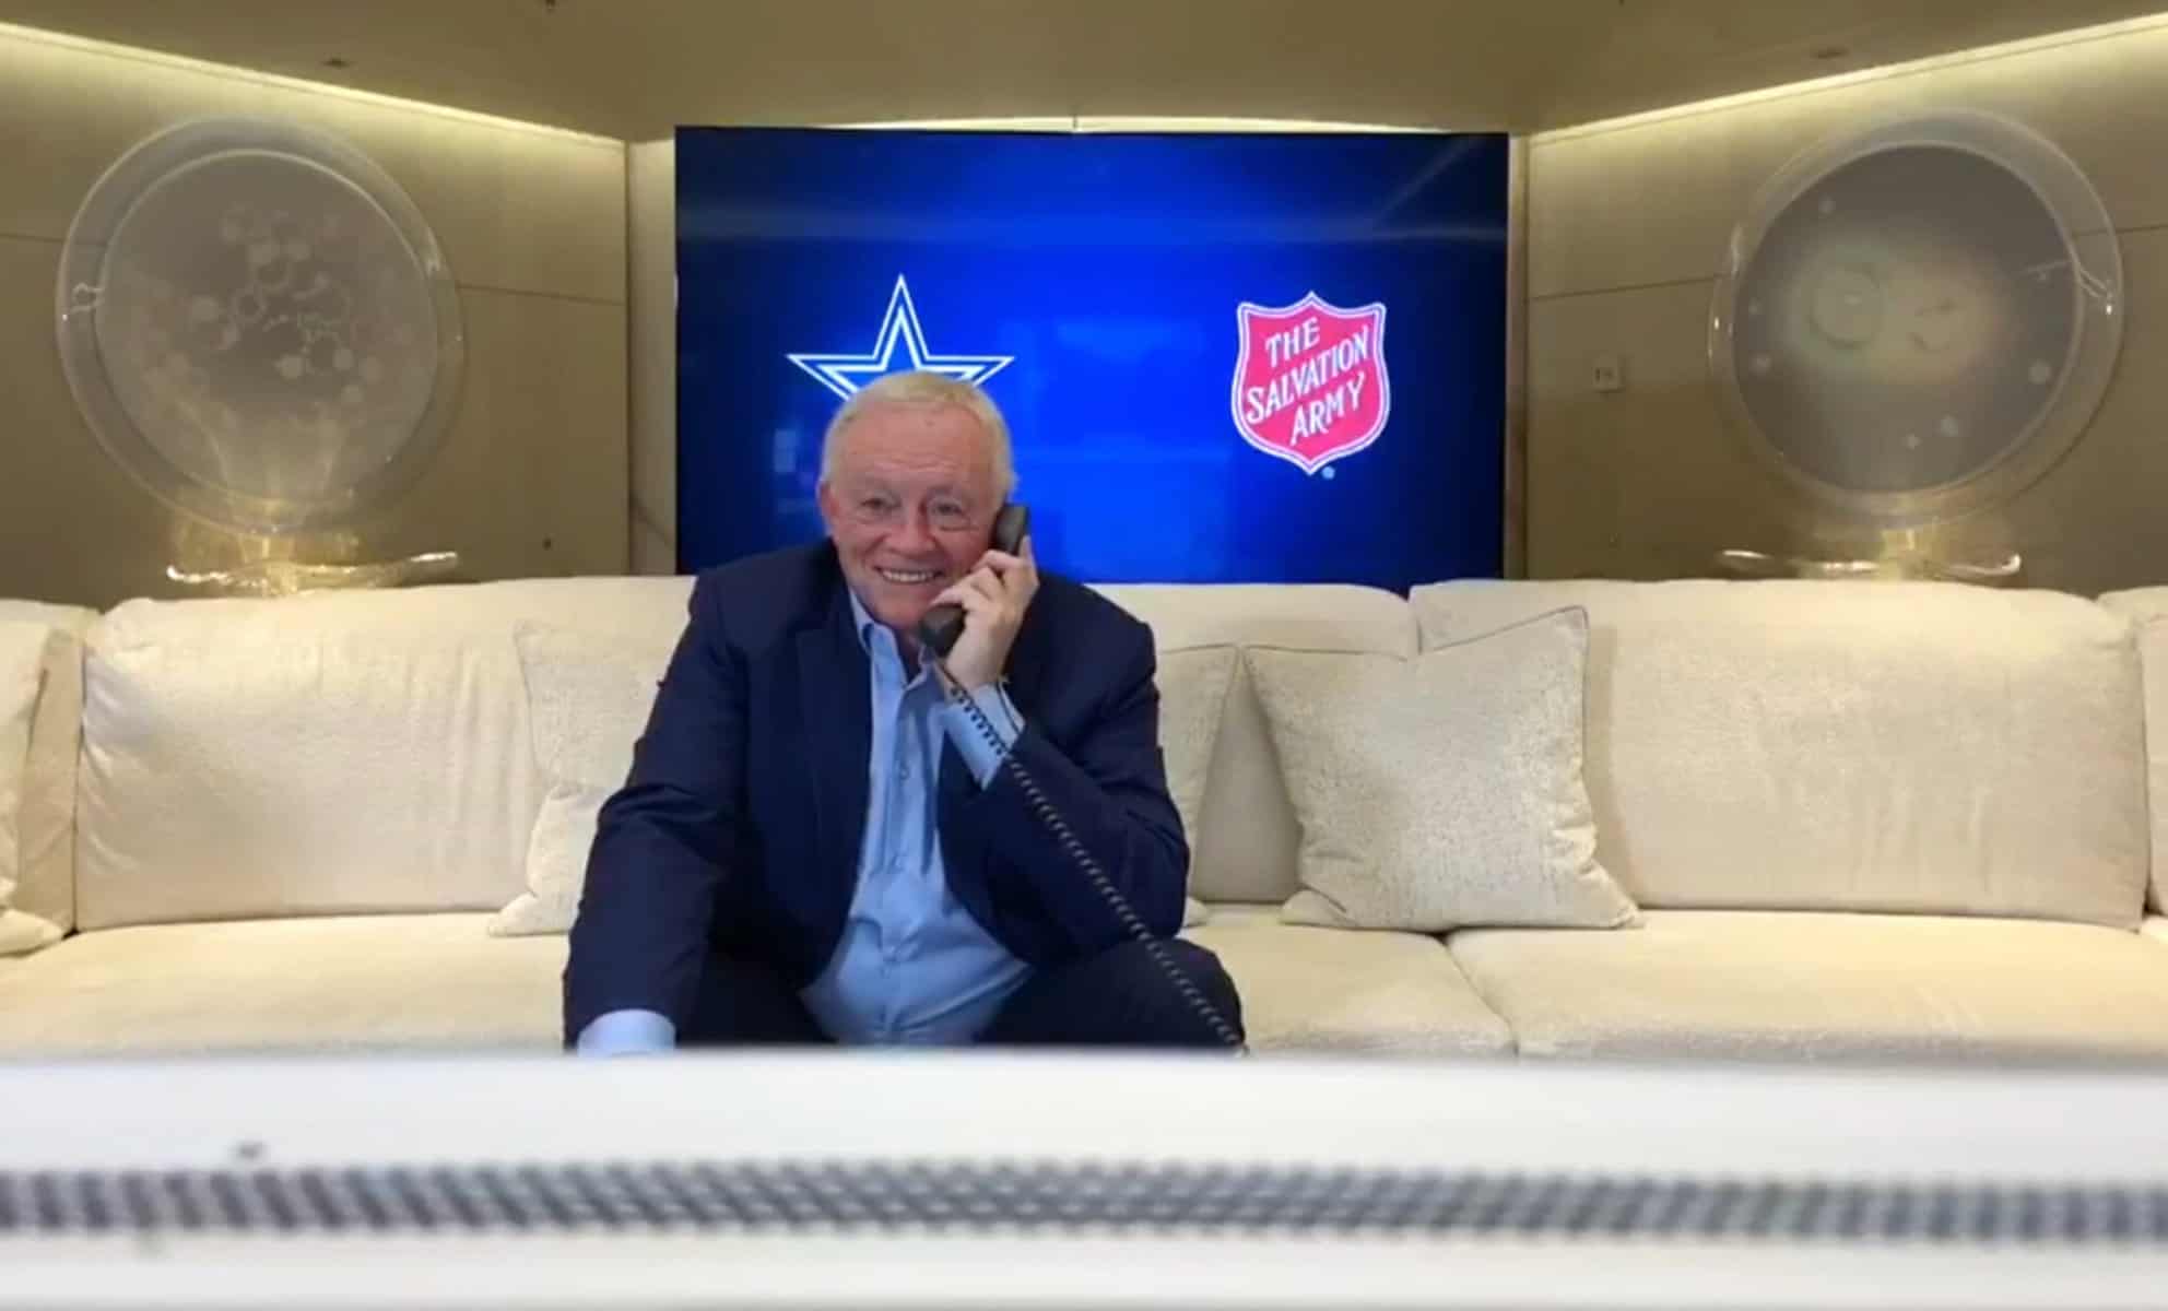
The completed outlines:
{"type": "Polygon", "coordinates": [[[262,119],[173,128],[98,180],[61,254],[59,345],[130,477],[264,535],[412,488],[464,364],[421,210],[360,152],[262,119]]]}

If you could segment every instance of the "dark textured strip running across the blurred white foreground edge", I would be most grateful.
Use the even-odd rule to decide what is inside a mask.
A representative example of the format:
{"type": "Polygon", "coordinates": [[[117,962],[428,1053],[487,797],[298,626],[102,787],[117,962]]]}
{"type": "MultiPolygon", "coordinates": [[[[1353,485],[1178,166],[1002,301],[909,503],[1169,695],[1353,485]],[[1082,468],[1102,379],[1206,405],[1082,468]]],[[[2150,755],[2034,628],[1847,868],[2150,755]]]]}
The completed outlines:
{"type": "Polygon", "coordinates": [[[0,1172],[0,1237],[806,1229],[2168,1246],[2168,1187],[1056,1164],[0,1172]]]}

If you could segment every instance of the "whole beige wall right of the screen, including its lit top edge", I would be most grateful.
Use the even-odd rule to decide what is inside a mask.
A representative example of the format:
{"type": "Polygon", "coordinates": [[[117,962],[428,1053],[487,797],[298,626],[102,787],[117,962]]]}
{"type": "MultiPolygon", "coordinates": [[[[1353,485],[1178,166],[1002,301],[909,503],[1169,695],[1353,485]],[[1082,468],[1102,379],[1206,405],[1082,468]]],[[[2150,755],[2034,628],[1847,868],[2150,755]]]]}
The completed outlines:
{"type": "Polygon", "coordinates": [[[1708,314],[1754,191],[1830,132],[1932,108],[2031,126],[2092,180],[2118,230],[2129,319],[2081,442],[2010,505],[1945,533],[2010,544],[2027,581],[2103,592],[2168,581],[2168,24],[1591,124],[1528,150],[1528,570],[1539,579],[1713,572],[1784,546],[1776,488],[1708,384],[1708,314]],[[1626,388],[1596,392],[1598,355],[1626,388]]]}

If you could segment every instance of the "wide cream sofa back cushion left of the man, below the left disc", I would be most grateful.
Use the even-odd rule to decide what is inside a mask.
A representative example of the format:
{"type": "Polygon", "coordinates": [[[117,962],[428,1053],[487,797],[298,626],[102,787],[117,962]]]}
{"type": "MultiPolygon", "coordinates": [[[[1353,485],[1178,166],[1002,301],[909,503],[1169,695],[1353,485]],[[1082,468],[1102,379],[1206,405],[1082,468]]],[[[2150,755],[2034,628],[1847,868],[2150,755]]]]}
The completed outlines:
{"type": "Polygon", "coordinates": [[[520,620],[672,641],[689,579],[132,600],[91,635],[78,921],[494,910],[549,780],[520,620]]]}

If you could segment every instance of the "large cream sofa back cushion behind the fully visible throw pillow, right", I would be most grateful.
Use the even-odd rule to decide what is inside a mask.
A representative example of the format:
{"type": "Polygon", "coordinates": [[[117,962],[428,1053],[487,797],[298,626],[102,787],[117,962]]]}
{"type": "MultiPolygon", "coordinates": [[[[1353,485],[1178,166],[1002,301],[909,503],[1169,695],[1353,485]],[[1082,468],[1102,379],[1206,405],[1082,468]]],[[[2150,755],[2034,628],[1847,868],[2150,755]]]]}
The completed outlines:
{"type": "Polygon", "coordinates": [[[1589,611],[1598,856],[1641,906],[2135,927],[2138,652],[1958,583],[1442,583],[1422,641],[1589,611]]]}

